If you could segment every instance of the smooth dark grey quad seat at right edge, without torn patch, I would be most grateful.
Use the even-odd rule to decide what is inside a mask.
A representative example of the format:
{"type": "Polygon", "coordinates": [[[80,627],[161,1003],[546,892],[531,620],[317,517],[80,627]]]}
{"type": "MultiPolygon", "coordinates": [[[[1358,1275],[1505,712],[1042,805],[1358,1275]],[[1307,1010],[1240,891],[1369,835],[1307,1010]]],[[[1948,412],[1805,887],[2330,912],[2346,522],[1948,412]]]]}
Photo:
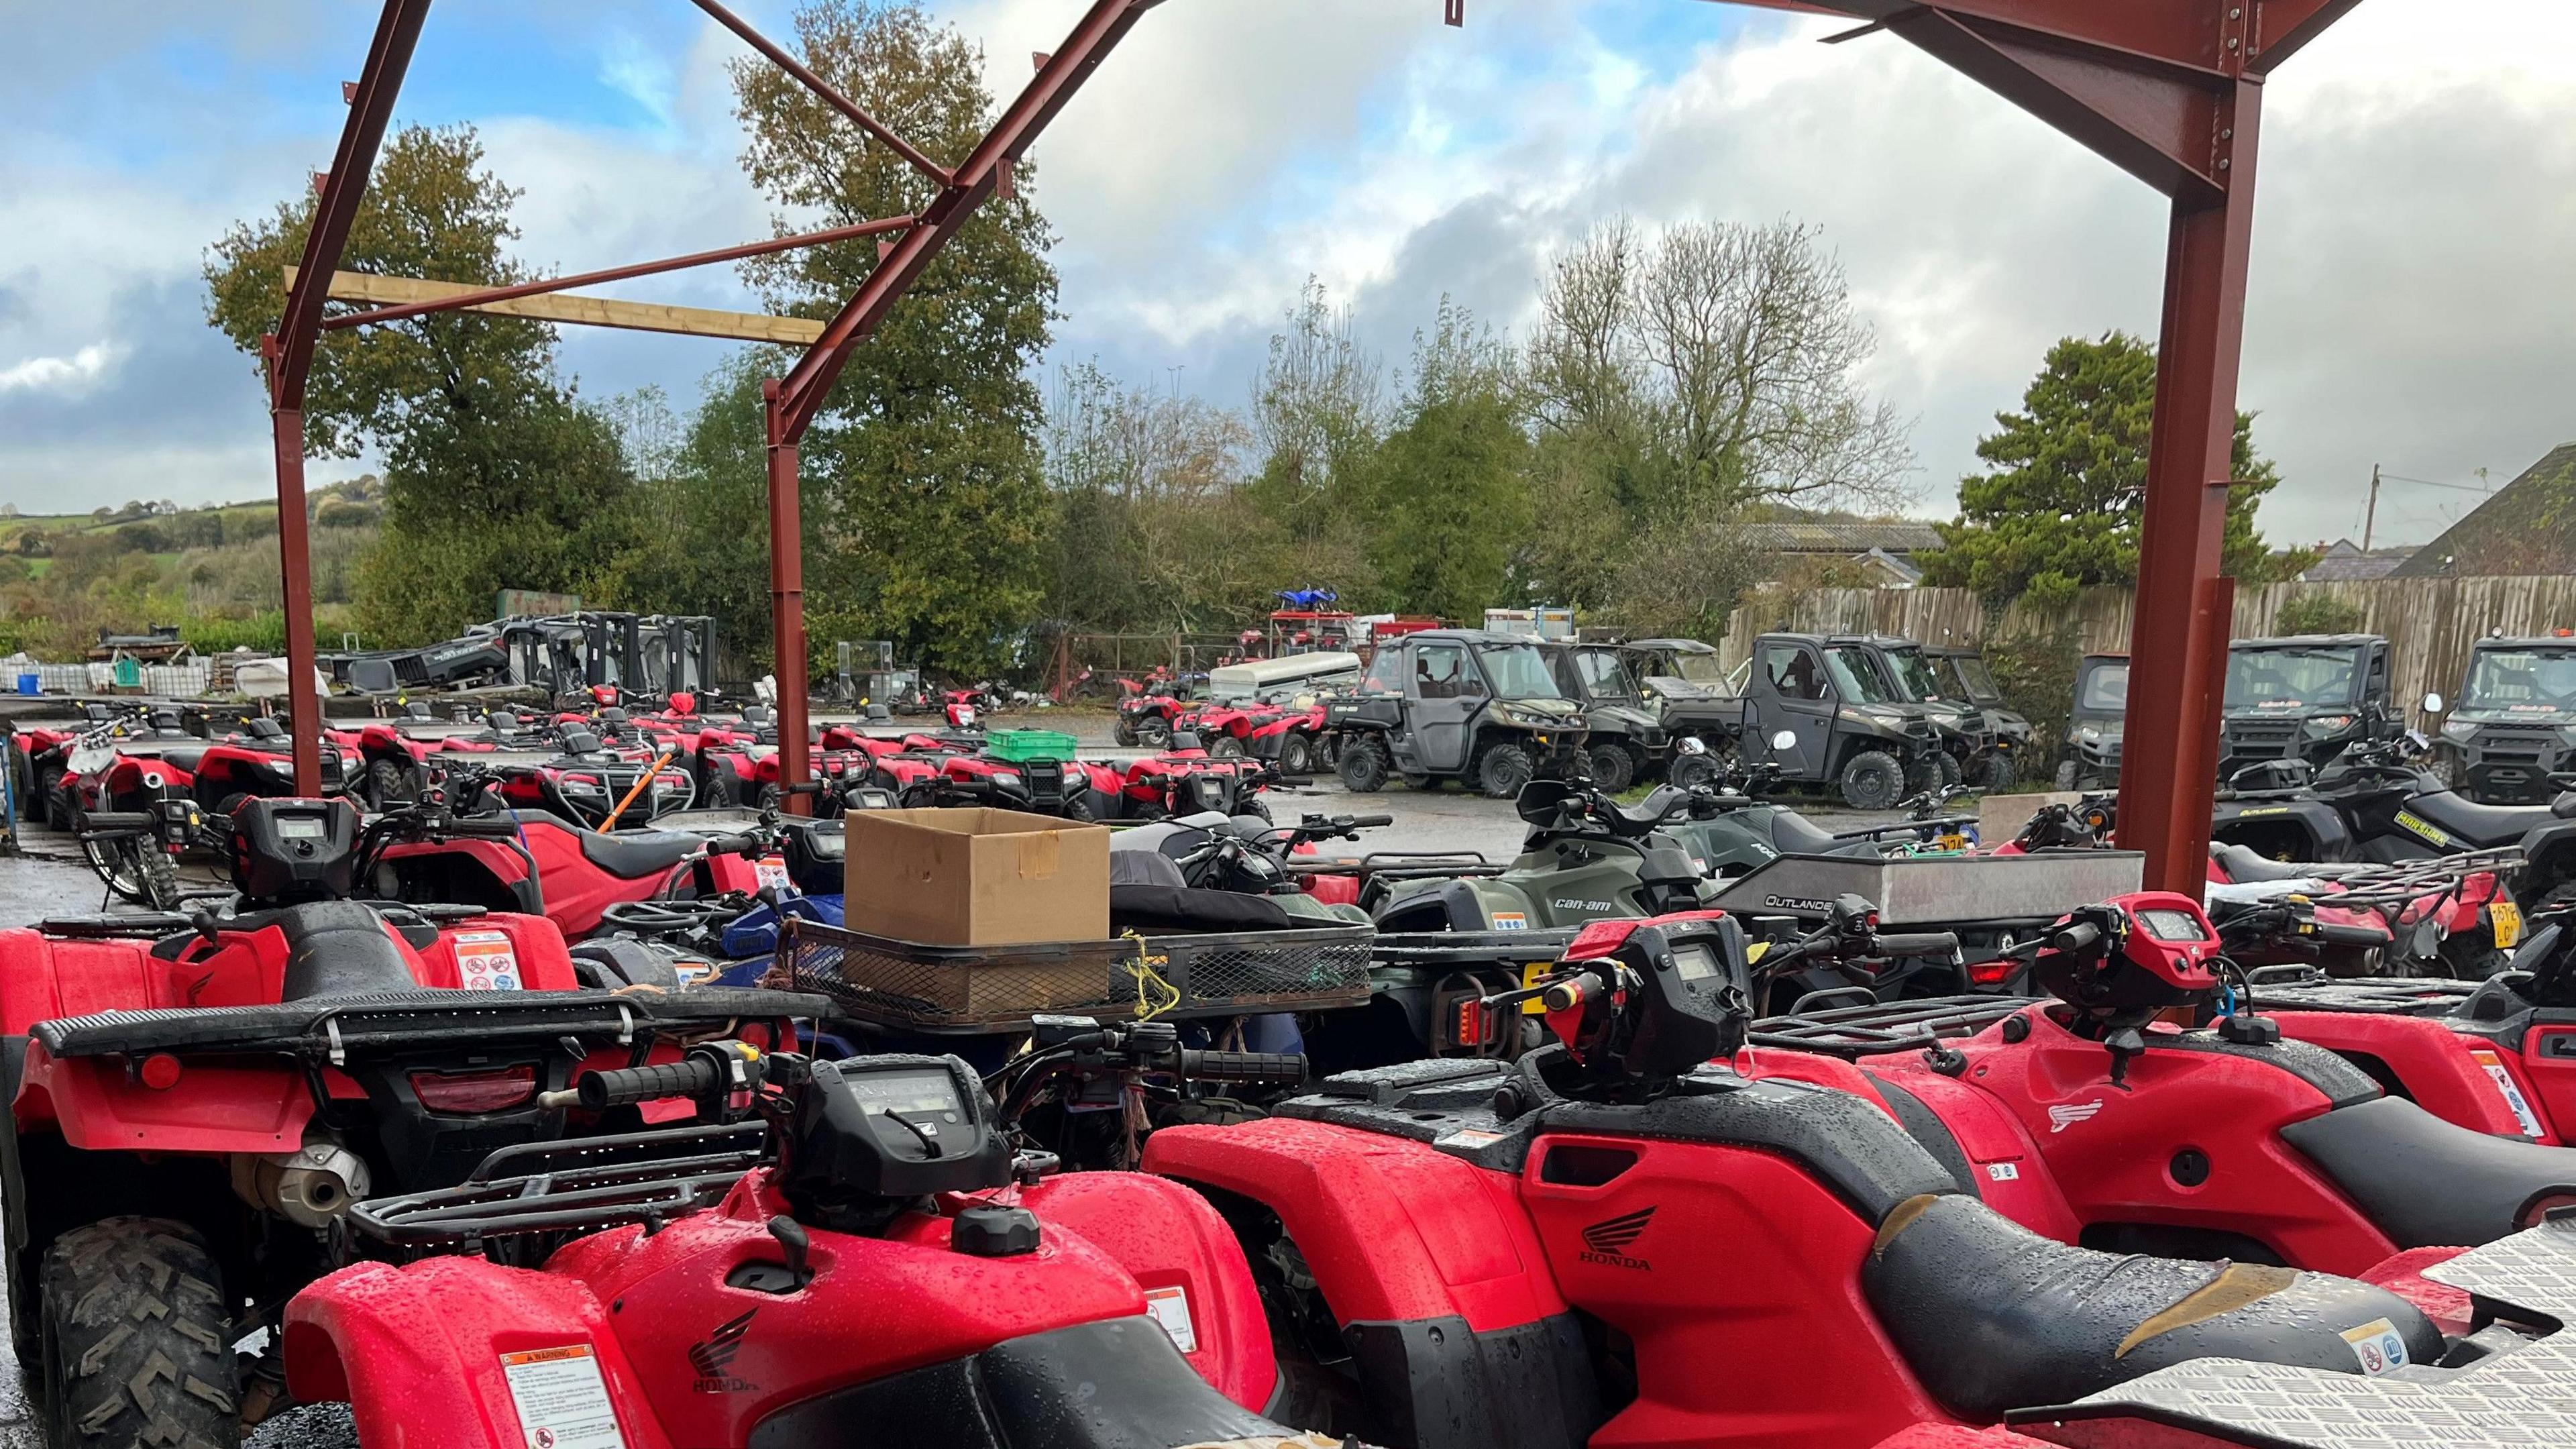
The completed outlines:
{"type": "Polygon", "coordinates": [[[2316,1160],[2398,1248],[2494,1243],[2576,1201],[2576,1150],[2488,1137],[2383,1096],[2280,1134],[2316,1160]]]}

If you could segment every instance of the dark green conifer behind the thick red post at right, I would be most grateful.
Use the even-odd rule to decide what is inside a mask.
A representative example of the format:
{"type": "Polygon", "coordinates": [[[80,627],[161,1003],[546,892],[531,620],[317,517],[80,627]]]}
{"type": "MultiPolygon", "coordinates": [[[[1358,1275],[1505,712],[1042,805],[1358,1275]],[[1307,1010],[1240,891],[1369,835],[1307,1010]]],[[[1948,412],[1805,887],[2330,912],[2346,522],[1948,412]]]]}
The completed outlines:
{"type": "MultiPolygon", "coordinates": [[[[2154,415],[2151,345],[2128,333],[2058,340],[2022,410],[1996,413],[1996,431],[1976,443],[1991,472],[1960,480],[1958,518],[1935,523],[1942,549],[1929,554],[1924,583],[1973,588],[1996,606],[2025,593],[2069,603],[2079,588],[2136,583],[2154,415]]],[[[2254,529],[2280,469],[2254,451],[2251,413],[2236,415],[2233,472],[2226,572],[2282,578],[2298,559],[2275,557],[2254,529]]]]}

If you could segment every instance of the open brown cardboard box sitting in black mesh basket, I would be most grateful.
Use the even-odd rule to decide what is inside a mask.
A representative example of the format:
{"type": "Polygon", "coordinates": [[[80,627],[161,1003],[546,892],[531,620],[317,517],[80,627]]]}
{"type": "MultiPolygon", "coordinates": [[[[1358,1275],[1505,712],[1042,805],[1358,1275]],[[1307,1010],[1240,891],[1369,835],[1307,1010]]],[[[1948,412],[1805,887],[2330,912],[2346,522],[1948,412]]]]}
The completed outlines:
{"type": "Polygon", "coordinates": [[[1105,941],[1110,833],[1018,810],[853,810],[850,931],[925,946],[1105,941]]]}

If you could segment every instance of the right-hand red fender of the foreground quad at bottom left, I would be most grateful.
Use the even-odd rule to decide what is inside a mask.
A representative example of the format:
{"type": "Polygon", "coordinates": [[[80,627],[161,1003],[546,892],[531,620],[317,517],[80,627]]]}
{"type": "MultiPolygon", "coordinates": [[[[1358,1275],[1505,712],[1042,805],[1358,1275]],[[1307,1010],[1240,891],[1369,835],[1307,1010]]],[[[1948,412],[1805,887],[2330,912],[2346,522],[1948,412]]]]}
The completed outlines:
{"type": "Polygon", "coordinates": [[[1144,1173],[1069,1173],[1020,1194],[1048,1225],[1118,1261],[1208,1387],[1260,1413],[1278,1390],[1252,1269],[1208,1199],[1144,1173]]]}

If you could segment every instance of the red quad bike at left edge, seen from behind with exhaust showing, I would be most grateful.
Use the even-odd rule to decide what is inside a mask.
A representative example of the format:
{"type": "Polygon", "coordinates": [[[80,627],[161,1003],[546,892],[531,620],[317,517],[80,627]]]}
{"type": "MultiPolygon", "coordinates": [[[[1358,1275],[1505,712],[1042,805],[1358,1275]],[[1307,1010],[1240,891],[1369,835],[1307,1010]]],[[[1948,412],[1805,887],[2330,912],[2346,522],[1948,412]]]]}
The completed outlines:
{"type": "Polygon", "coordinates": [[[538,1093],[824,1006],[574,990],[544,918],[350,900],[343,799],[245,802],[227,841],[222,913],[0,931],[10,1328],[52,1449],[232,1444],[278,1400],[234,1343],[363,1253],[353,1201],[634,1132],[538,1093]]]}

